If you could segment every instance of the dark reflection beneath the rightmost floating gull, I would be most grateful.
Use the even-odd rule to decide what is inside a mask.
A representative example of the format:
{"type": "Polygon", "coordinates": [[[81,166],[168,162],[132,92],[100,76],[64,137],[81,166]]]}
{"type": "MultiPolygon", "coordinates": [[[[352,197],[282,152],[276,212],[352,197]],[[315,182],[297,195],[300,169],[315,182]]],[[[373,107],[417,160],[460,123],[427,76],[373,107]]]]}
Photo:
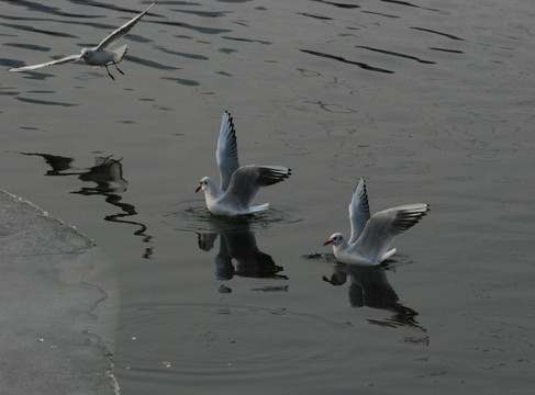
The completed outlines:
{"type": "MultiPolygon", "coordinates": [[[[388,282],[386,269],[380,266],[364,267],[357,264],[345,264],[336,262],[333,267],[331,279],[323,276],[323,281],[333,285],[343,285],[349,276],[349,304],[352,307],[371,307],[392,312],[393,315],[387,319],[368,319],[370,324],[384,327],[413,327],[427,331],[420,326],[415,317],[417,313],[403,306],[399,301],[398,294],[388,282]]],[[[410,342],[427,343],[428,338],[409,340],[410,342]]]]}

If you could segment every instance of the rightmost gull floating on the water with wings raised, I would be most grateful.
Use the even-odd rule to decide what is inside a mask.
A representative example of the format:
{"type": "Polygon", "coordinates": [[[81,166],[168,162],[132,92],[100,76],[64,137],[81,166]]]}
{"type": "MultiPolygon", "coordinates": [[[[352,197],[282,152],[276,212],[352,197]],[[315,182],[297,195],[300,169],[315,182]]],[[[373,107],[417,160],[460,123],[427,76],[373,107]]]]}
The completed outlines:
{"type": "Polygon", "coordinates": [[[323,245],[333,245],[336,260],[342,263],[376,266],[395,253],[388,250],[394,237],[414,226],[430,210],[426,203],[405,204],[384,210],[370,217],[366,182],[357,183],[349,203],[352,237],[331,235],[323,245]]]}

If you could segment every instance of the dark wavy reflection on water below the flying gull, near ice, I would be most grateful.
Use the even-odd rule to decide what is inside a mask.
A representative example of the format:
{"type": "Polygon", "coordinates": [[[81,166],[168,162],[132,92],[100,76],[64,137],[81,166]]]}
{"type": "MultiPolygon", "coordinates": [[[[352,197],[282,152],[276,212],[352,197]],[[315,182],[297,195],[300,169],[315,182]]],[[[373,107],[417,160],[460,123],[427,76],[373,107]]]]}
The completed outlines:
{"type": "MultiPolygon", "coordinates": [[[[129,224],[138,227],[134,232],[135,236],[140,236],[143,242],[151,242],[152,236],[146,230],[147,226],[140,222],[125,219],[137,215],[135,206],[129,203],[122,202],[121,193],[125,192],[129,182],[123,178],[123,165],[119,159],[112,159],[111,157],[96,157],[94,166],[82,171],[75,171],[71,163],[74,158],[62,157],[57,155],[48,154],[35,154],[35,153],[20,153],[25,156],[38,156],[42,157],[46,163],[51,167],[46,171],[45,176],[78,176],[78,179],[83,182],[94,182],[96,187],[82,187],[79,191],[73,191],[70,193],[81,194],[85,196],[102,195],[105,198],[105,202],[111,205],[121,208],[118,214],[107,215],[104,221],[129,224]]],[[[153,253],[153,247],[145,248],[143,258],[149,259],[153,253]]]]}

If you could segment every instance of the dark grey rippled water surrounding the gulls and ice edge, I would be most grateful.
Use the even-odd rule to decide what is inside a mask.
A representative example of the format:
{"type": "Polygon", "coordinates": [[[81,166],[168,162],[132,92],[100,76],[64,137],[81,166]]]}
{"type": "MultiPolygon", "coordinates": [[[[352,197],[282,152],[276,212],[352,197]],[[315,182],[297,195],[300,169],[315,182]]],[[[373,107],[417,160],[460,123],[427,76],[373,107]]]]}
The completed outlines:
{"type": "MultiPolygon", "coordinates": [[[[0,3],[0,65],[98,44],[146,2],[0,3]]],[[[121,291],[123,394],[528,394],[535,267],[530,1],[158,1],[125,76],[3,72],[0,187],[94,239],[121,291]],[[274,210],[216,221],[224,110],[274,210]],[[336,267],[372,212],[426,202],[387,270],[336,267]],[[326,253],[326,255],[325,255],[326,253]]]]}

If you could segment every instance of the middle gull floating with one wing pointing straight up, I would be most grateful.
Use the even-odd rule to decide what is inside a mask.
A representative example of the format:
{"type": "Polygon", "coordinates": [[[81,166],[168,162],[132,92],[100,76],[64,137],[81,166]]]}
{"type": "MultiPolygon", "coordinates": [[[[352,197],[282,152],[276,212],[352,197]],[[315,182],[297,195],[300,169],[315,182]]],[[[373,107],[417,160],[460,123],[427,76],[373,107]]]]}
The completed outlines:
{"type": "Polygon", "coordinates": [[[210,177],[203,177],[196,190],[202,189],[207,207],[213,215],[234,216],[267,210],[269,203],[250,205],[260,187],[272,185],[291,174],[291,170],[282,166],[239,167],[236,131],[227,111],[221,119],[215,158],[220,168],[220,188],[210,177]]]}

